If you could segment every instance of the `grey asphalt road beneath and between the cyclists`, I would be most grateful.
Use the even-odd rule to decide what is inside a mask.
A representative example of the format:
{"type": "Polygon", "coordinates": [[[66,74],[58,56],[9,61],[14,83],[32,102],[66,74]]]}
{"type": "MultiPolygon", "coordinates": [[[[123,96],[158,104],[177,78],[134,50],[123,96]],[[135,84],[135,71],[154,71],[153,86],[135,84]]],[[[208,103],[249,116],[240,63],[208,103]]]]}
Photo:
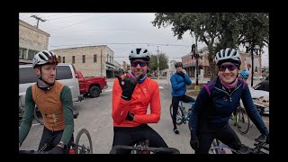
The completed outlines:
{"type": "MultiPolygon", "coordinates": [[[[97,98],[86,97],[83,102],[74,103],[74,109],[79,112],[78,118],[75,120],[76,133],[85,128],[89,130],[93,140],[94,154],[108,154],[112,148],[112,79],[108,80],[108,89],[104,89],[103,93],[97,98]]],[[[191,154],[193,149],[189,145],[190,131],[188,124],[178,126],[180,134],[175,135],[173,124],[169,113],[169,105],[171,103],[171,86],[165,79],[158,80],[161,95],[161,119],[157,124],[149,124],[153,129],[165,139],[169,147],[178,148],[181,154],[191,154]]],[[[269,117],[263,117],[266,125],[269,126],[269,117]]],[[[20,149],[31,150],[37,149],[43,126],[33,122],[31,131],[20,149]]],[[[231,127],[236,130],[232,125],[231,127]]],[[[236,130],[238,133],[238,131],[236,130]]],[[[255,125],[245,135],[238,133],[241,141],[247,146],[253,146],[253,139],[259,136],[259,132],[255,125]]]]}

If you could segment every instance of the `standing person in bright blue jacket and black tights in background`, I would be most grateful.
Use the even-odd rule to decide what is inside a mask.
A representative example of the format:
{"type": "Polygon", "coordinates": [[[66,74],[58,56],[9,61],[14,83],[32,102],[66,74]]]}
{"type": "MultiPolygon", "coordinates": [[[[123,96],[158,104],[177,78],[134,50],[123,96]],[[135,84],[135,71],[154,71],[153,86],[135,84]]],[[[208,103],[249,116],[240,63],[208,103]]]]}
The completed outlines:
{"type": "Polygon", "coordinates": [[[172,105],[173,105],[173,125],[175,134],[179,134],[179,130],[176,126],[176,114],[178,111],[179,101],[183,101],[184,103],[194,102],[195,100],[185,95],[186,93],[186,85],[191,85],[192,81],[189,76],[185,75],[183,70],[183,63],[176,62],[175,63],[176,72],[170,77],[170,82],[172,85],[172,105]]]}

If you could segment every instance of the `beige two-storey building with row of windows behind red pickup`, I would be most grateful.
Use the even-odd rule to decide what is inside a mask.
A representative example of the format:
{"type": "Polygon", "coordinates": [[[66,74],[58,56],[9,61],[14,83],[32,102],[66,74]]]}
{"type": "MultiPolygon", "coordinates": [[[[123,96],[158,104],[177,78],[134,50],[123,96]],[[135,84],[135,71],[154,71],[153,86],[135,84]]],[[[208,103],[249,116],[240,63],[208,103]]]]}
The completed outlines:
{"type": "Polygon", "coordinates": [[[63,63],[72,63],[83,76],[113,77],[114,52],[106,45],[54,49],[63,63]]]}

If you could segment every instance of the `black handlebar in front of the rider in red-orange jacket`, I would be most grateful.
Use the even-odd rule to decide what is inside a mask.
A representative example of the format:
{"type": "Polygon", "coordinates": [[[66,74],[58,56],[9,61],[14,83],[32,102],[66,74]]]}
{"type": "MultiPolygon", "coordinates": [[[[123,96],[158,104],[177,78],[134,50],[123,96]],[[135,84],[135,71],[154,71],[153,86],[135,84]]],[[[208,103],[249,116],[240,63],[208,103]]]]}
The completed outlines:
{"type": "Polygon", "coordinates": [[[148,151],[152,151],[154,153],[168,153],[168,154],[180,154],[180,151],[176,148],[152,148],[152,147],[147,147],[147,148],[143,148],[143,147],[131,147],[131,146],[124,146],[124,145],[116,145],[112,147],[111,150],[111,154],[116,154],[118,149],[136,149],[136,150],[148,150],[148,151]]]}

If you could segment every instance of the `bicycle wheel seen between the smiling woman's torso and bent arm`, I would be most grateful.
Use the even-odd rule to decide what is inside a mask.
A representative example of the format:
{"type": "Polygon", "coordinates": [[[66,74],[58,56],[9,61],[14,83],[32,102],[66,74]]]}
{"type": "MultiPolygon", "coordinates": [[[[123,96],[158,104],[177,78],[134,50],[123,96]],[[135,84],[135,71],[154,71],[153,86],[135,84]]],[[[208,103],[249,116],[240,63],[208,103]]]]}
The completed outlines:
{"type": "Polygon", "coordinates": [[[244,108],[240,107],[237,111],[237,129],[241,134],[246,134],[250,127],[250,119],[244,108]]]}

